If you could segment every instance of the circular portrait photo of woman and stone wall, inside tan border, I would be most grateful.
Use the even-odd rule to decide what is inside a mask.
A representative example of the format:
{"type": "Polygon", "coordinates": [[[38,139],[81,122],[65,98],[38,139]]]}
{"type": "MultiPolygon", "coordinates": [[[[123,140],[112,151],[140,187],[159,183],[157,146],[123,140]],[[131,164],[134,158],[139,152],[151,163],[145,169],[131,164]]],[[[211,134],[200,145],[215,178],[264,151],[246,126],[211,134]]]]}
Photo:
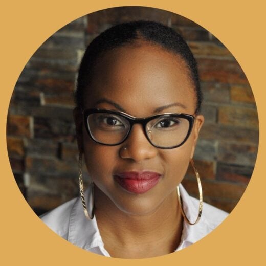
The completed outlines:
{"type": "Polygon", "coordinates": [[[97,11],[58,30],[21,73],[7,146],[21,193],[92,253],[150,258],[211,233],[251,178],[258,116],[215,36],[148,7],[97,11]]]}

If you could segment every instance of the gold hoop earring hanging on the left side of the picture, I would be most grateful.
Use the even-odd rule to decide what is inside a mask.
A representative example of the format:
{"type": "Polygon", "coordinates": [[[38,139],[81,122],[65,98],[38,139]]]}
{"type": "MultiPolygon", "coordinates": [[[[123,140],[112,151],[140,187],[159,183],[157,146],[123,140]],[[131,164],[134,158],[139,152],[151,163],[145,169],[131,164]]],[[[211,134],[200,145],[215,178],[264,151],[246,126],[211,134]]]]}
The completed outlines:
{"type": "Polygon", "coordinates": [[[82,152],[79,153],[78,158],[78,172],[79,172],[79,191],[80,191],[80,197],[81,202],[83,206],[83,211],[85,213],[86,218],[93,219],[94,218],[94,191],[93,191],[93,181],[88,186],[89,191],[89,198],[88,198],[88,207],[89,210],[87,210],[85,197],[84,197],[84,189],[83,189],[83,179],[82,179],[82,152]]]}

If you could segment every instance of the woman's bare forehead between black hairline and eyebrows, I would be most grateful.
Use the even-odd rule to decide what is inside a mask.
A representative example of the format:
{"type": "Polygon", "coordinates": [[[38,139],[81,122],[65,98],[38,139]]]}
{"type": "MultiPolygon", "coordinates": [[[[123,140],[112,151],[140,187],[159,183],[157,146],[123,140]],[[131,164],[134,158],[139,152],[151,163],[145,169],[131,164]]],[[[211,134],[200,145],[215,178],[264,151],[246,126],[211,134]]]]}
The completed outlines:
{"type": "Polygon", "coordinates": [[[150,44],[126,45],[105,53],[96,62],[84,98],[86,108],[99,107],[96,102],[107,98],[134,116],[149,115],[154,108],[174,102],[191,112],[195,107],[193,82],[184,59],[150,44]]]}

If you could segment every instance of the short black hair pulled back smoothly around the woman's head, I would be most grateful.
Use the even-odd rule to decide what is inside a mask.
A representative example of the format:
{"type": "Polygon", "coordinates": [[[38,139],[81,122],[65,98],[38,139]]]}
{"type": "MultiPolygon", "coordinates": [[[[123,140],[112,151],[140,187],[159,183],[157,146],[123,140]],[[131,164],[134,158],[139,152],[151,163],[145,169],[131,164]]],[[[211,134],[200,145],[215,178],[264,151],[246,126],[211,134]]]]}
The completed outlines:
{"type": "Polygon", "coordinates": [[[183,58],[188,66],[196,94],[196,113],[200,112],[202,92],[198,77],[197,62],[183,37],[161,23],[155,21],[137,20],[115,25],[98,35],[88,45],[81,60],[75,100],[78,107],[83,108],[84,90],[93,78],[92,72],[97,59],[104,52],[137,41],[147,41],[151,44],[173,52],[183,58]]]}

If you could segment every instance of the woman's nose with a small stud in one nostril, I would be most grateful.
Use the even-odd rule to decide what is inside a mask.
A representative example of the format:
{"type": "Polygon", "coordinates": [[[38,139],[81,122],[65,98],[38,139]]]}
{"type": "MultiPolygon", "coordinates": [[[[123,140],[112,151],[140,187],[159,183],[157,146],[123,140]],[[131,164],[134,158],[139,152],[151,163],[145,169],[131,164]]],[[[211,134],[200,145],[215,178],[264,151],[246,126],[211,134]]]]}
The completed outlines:
{"type": "Polygon", "coordinates": [[[132,126],[129,136],[120,149],[121,158],[132,159],[135,162],[151,159],[157,156],[157,153],[158,148],[149,143],[140,124],[132,126]]]}

